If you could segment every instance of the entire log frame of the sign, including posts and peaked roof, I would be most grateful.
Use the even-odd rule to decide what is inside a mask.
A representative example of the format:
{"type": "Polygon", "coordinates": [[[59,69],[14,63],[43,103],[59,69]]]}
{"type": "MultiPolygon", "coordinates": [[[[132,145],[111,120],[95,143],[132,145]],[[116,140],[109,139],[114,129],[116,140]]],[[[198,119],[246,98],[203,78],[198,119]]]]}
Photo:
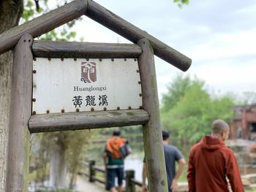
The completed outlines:
{"type": "Polygon", "coordinates": [[[0,54],[13,47],[15,50],[12,68],[7,191],[26,191],[28,187],[29,130],[36,133],[138,124],[143,124],[149,191],[167,191],[154,54],[182,71],[189,69],[192,63],[190,58],[91,0],[72,1],[63,7],[0,34],[0,54]],[[124,38],[138,43],[139,46],[35,41],[33,44],[34,57],[138,58],[143,110],[31,116],[33,59],[31,45],[33,38],[79,18],[81,15],[96,20],[124,38]]]}

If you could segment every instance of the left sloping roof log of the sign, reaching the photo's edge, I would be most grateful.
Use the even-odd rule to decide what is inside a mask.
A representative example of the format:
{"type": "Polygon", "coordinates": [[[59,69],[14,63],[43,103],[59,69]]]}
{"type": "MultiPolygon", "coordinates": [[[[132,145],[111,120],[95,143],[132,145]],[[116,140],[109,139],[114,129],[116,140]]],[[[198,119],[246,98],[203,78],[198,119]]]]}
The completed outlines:
{"type": "Polygon", "coordinates": [[[75,0],[23,25],[4,31],[0,34],[0,54],[14,47],[23,34],[29,33],[32,37],[39,37],[64,23],[79,18],[86,9],[87,0],[75,0]]]}

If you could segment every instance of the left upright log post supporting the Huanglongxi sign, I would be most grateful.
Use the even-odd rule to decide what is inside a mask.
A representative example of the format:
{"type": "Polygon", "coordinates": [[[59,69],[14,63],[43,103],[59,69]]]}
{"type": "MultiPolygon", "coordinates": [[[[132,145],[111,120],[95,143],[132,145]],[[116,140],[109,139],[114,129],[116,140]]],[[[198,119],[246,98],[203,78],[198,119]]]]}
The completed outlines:
{"type": "Polygon", "coordinates": [[[29,185],[32,42],[33,37],[24,34],[13,51],[6,191],[27,191],[29,185]]]}

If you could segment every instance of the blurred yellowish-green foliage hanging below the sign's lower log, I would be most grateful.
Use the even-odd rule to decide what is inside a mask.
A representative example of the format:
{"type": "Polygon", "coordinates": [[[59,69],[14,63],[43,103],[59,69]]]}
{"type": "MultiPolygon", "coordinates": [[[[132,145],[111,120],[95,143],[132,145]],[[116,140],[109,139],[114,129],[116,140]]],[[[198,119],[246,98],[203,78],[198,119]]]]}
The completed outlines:
{"type": "Polygon", "coordinates": [[[69,188],[75,185],[75,175],[78,174],[91,139],[89,130],[57,131],[34,134],[31,147],[31,165],[36,168],[29,179],[43,183],[49,174],[50,150],[61,145],[69,170],[69,188]]]}

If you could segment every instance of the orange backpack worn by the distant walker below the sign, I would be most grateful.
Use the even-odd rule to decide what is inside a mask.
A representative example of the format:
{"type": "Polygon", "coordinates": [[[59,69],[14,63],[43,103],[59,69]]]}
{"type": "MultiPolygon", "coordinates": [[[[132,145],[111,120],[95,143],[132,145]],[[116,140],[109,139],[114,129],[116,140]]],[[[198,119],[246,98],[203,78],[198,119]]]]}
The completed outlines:
{"type": "Polygon", "coordinates": [[[127,140],[121,137],[108,139],[106,150],[109,158],[125,158],[129,155],[127,140]]]}

